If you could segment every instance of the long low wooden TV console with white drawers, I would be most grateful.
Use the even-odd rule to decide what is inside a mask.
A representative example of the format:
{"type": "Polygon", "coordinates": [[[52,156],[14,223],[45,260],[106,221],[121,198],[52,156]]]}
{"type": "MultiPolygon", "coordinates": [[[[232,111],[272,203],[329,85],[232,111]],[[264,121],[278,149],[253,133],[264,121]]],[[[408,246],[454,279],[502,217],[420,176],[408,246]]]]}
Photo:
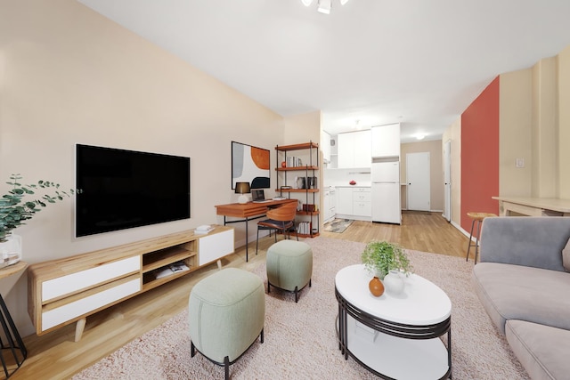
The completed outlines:
{"type": "Polygon", "coordinates": [[[38,336],[77,322],[76,342],[87,316],[177,279],[233,253],[233,228],[206,235],[176,232],[118,247],[36,263],[28,271],[28,313],[38,336]],[[188,270],[159,277],[174,263],[188,270]]]}

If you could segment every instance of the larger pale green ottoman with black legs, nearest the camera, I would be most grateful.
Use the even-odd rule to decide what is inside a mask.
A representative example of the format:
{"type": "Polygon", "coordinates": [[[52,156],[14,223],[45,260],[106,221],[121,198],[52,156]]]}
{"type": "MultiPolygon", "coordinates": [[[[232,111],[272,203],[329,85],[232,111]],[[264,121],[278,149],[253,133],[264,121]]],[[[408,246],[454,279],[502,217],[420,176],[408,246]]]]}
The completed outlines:
{"type": "Polygon", "coordinates": [[[198,350],[225,368],[256,342],[264,343],[265,291],[262,279],[237,268],[226,268],[202,279],[188,304],[191,357],[198,350]]]}

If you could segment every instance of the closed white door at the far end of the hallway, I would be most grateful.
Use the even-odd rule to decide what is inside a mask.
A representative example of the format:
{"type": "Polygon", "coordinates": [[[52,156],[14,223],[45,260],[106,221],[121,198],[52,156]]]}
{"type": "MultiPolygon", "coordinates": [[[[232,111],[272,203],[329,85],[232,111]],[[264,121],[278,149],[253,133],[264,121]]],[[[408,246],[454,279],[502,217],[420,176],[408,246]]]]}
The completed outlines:
{"type": "Polygon", "coordinates": [[[429,152],[407,153],[408,210],[429,211],[429,152]]]}

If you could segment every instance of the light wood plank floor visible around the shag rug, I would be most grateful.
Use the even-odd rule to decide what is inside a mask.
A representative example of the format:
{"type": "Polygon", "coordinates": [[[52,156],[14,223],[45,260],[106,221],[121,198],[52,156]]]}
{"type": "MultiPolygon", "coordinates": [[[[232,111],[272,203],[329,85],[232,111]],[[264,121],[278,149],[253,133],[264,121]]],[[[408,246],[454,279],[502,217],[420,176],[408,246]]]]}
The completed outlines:
{"type": "MultiPolygon", "coordinates": [[[[401,226],[356,221],[343,233],[322,231],[321,236],[360,242],[388,240],[408,249],[461,257],[465,257],[468,247],[468,238],[446,222],[441,214],[425,212],[403,213],[401,226]]],[[[256,243],[250,242],[248,263],[245,247],[236,249],[236,253],[225,257],[222,263],[224,267],[252,270],[265,261],[265,251],[272,243],[273,238],[261,239],[259,254],[255,255],[256,243]]],[[[83,337],[77,343],[74,342],[75,324],[45,336],[25,337],[28,359],[11,378],[65,379],[73,376],[184,311],[191,287],[216,270],[216,263],[210,264],[88,317],[83,337]]],[[[181,334],[186,333],[181,331],[181,334]]]]}

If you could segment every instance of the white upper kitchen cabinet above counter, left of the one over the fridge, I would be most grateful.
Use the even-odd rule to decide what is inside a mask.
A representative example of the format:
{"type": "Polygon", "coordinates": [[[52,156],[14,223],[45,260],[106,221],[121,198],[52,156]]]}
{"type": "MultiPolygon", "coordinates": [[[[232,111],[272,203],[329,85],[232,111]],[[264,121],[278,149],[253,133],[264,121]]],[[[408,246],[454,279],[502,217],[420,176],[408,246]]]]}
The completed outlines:
{"type": "Polygon", "coordinates": [[[338,134],[338,167],[371,167],[371,131],[338,134]]]}

